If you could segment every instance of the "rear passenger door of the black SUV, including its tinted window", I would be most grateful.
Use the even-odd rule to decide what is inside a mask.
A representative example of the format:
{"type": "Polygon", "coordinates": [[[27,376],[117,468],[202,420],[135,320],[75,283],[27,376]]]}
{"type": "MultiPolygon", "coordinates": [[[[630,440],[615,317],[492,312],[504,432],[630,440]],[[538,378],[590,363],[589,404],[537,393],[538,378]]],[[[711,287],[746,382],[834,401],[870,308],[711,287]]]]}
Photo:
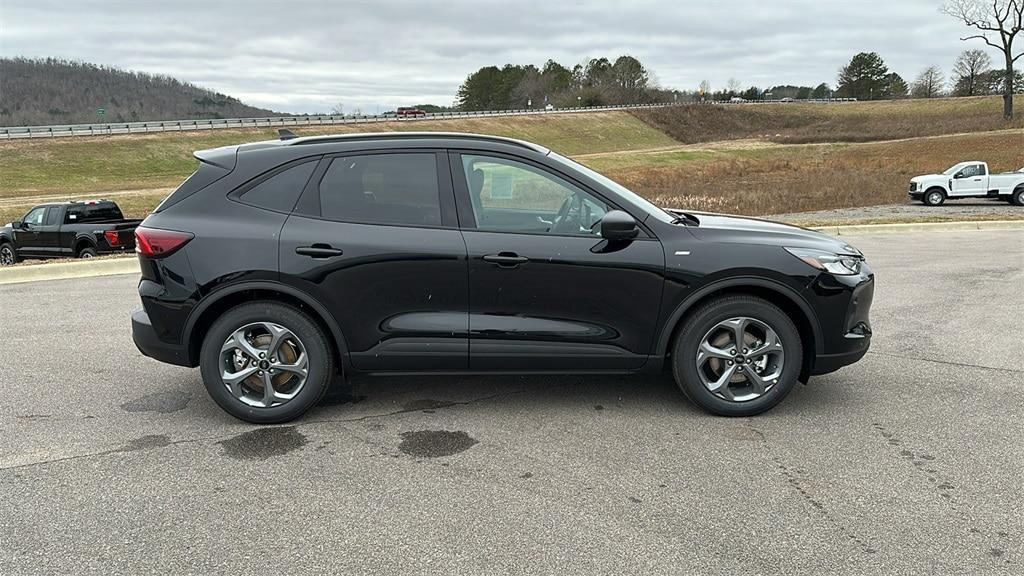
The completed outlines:
{"type": "Polygon", "coordinates": [[[325,158],[282,231],[281,274],[328,307],[355,368],[467,367],[466,244],[443,152],[325,158]]]}

